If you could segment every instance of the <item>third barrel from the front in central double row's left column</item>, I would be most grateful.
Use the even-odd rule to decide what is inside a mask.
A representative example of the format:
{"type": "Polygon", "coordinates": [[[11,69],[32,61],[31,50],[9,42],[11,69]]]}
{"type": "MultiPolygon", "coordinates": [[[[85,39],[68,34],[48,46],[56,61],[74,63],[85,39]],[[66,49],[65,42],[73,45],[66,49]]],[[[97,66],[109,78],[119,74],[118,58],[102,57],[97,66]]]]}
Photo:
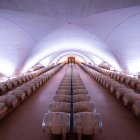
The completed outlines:
{"type": "Polygon", "coordinates": [[[55,96],[53,96],[53,100],[55,102],[71,103],[71,95],[64,95],[64,94],[55,95],[55,96]]]}

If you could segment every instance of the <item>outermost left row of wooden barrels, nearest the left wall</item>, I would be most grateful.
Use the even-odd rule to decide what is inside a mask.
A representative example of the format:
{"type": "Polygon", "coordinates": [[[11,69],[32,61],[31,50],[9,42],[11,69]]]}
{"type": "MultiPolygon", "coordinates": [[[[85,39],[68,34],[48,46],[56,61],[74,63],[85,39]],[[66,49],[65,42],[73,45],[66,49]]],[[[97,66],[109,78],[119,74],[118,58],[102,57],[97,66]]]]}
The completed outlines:
{"type": "Polygon", "coordinates": [[[13,78],[8,81],[0,83],[0,95],[6,94],[8,91],[15,89],[18,86],[21,86],[22,84],[34,79],[35,77],[49,71],[50,69],[52,69],[56,66],[58,66],[58,64],[48,66],[46,68],[42,68],[35,72],[26,73],[24,75],[21,75],[16,78],[13,78]]]}

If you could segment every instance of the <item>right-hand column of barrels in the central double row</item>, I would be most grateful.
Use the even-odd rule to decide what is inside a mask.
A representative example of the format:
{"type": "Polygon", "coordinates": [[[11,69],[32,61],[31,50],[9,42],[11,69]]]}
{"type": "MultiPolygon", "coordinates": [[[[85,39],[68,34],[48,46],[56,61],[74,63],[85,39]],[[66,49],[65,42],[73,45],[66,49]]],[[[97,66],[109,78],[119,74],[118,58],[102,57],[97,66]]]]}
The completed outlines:
{"type": "Polygon", "coordinates": [[[77,69],[73,69],[72,76],[73,93],[73,128],[78,135],[78,140],[82,135],[97,134],[102,131],[102,121],[99,113],[96,113],[93,102],[80,78],[77,69]]]}

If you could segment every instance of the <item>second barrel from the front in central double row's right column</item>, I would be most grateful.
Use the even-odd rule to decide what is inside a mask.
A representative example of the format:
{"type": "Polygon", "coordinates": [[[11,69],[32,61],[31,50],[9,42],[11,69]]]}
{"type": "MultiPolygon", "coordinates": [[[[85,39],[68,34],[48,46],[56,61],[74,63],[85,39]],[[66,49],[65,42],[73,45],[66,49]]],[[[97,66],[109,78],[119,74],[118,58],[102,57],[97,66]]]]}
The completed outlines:
{"type": "Polygon", "coordinates": [[[78,112],[96,112],[96,109],[92,102],[76,102],[73,104],[73,113],[78,112]]]}

